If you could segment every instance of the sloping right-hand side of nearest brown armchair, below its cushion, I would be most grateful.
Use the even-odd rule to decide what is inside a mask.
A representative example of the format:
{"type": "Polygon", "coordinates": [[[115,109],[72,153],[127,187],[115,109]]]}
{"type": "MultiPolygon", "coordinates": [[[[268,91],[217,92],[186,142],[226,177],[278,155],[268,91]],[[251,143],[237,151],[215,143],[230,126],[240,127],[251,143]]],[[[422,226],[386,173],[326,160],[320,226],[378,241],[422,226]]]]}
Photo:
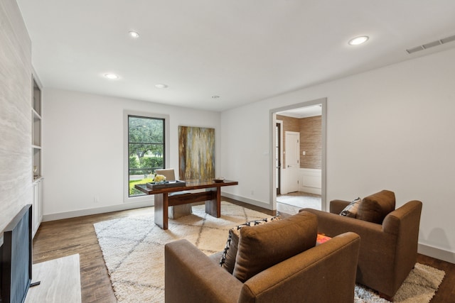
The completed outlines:
{"type": "Polygon", "coordinates": [[[251,277],[239,302],[353,302],[359,249],[357,234],[336,236],[251,277]]]}

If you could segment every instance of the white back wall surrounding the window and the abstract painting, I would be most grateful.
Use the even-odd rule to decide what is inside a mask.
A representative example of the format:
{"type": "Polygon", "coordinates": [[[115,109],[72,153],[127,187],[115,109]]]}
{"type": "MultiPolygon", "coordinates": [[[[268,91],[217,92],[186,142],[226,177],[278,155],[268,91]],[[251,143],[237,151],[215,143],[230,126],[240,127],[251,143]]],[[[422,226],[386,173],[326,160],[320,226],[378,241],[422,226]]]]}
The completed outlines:
{"type": "MultiPolygon", "coordinates": [[[[124,110],[167,114],[170,167],[178,171],[178,126],[215,128],[220,113],[56,89],[43,91],[43,218],[127,209],[124,197],[124,110]],[[99,202],[94,202],[94,197],[99,202]]],[[[218,172],[218,170],[217,170],[218,172]]],[[[151,203],[149,203],[151,204],[151,203]]],[[[137,204],[140,206],[143,204],[137,204]]]]}

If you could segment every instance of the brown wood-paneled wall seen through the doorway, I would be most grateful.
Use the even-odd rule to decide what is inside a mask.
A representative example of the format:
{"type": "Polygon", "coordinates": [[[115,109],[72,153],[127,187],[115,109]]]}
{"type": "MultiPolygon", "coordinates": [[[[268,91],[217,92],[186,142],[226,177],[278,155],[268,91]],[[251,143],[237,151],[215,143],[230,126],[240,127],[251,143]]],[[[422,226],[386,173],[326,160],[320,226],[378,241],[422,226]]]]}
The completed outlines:
{"type": "MultiPolygon", "coordinates": [[[[286,146],[286,131],[296,131],[300,133],[300,168],[322,168],[322,118],[321,116],[309,118],[292,118],[277,115],[277,120],[283,121],[283,146],[286,146]],[[306,155],[302,152],[305,151],[306,155]]],[[[282,167],[286,167],[283,157],[282,167]]]]}

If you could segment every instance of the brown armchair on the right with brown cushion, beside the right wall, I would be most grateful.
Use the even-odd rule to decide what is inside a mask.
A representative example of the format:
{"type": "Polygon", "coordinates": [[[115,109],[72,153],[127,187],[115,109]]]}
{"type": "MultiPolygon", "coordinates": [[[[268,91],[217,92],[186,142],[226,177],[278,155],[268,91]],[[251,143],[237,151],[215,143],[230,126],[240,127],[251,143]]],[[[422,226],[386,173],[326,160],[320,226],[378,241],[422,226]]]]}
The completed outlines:
{"type": "MultiPolygon", "coordinates": [[[[356,214],[340,216],[350,202],[333,200],[330,213],[301,209],[318,216],[318,232],[336,236],[352,231],[361,238],[356,282],[392,300],[417,260],[422,202],[395,209],[395,194],[383,190],[360,200],[356,214]]],[[[351,204],[352,205],[352,204],[351,204]]]]}

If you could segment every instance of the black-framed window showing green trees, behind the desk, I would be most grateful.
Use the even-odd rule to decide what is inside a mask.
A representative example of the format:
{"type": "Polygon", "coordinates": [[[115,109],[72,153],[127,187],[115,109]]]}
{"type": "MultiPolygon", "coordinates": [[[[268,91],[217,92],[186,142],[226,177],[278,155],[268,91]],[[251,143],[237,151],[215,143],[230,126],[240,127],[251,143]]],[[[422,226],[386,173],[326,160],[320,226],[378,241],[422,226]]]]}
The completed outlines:
{"type": "Polygon", "coordinates": [[[127,198],[143,196],[135,184],[151,182],[156,169],[166,164],[166,119],[127,114],[127,198]]]}

